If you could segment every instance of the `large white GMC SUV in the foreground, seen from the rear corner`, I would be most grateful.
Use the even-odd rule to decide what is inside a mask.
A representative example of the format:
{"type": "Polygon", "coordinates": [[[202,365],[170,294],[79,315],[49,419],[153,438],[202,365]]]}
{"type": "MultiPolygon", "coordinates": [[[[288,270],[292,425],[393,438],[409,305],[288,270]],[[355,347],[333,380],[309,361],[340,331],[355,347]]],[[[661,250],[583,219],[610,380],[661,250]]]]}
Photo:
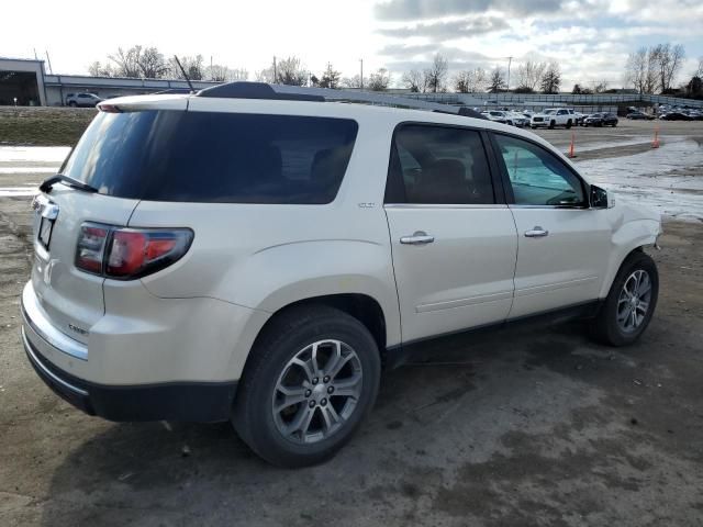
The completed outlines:
{"type": "Polygon", "coordinates": [[[382,368],[438,337],[544,314],[615,346],[647,327],[658,215],[545,141],[276,90],[101,103],[42,184],[23,339],[77,407],[232,419],[305,466],[349,439],[382,368]]]}

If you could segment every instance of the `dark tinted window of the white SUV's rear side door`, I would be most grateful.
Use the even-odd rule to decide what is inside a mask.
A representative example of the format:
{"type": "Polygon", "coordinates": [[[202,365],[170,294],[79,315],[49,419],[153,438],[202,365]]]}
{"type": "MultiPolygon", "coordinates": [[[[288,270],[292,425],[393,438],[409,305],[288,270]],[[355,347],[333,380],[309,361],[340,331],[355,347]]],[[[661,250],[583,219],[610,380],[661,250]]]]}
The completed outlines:
{"type": "Polygon", "coordinates": [[[387,203],[494,203],[481,136],[464,128],[403,125],[393,136],[387,203]]]}

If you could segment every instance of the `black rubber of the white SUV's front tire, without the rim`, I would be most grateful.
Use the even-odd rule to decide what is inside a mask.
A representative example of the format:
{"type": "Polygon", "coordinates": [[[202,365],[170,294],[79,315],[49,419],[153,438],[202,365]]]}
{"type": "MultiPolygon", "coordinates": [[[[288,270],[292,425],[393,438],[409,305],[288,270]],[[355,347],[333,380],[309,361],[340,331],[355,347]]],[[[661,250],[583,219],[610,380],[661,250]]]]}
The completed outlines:
{"type": "Polygon", "coordinates": [[[610,346],[628,346],[635,343],[649,325],[657,307],[658,296],[659,273],[657,271],[657,265],[651,257],[645,253],[636,251],[631,254],[617,271],[605,302],[601,306],[596,317],[591,322],[591,336],[594,340],[610,346]],[[625,285],[625,281],[637,270],[644,270],[649,276],[651,283],[649,307],[638,327],[632,332],[624,332],[617,324],[620,294],[625,285]]]}

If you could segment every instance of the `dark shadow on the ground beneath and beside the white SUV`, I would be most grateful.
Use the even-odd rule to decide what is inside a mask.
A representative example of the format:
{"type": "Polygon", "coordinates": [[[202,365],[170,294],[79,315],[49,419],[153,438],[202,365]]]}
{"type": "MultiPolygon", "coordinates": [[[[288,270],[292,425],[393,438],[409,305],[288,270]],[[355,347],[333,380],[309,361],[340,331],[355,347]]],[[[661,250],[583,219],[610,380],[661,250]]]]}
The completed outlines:
{"type": "MultiPolygon", "coordinates": [[[[478,335],[389,372],[360,433],[327,463],[301,470],[260,460],[228,423],[109,424],[67,446],[42,525],[219,525],[236,518],[309,525],[312,518],[334,522],[335,514],[369,500],[392,509],[387,492],[400,479],[415,478],[411,486],[440,484],[446,441],[468,449],[475,439],[495,444],[510,431],[513,425],[505,423],[481,431],[487,439],[472,438],[472,419],[490,415],[504,397],[528,397],[535,380],[551,370],[569,373],[580,360],[574,350],[587,341],[582,333],[571,323],[478,335]]],[[[361,522],[358,514],[353,517],[361,522]]]]}

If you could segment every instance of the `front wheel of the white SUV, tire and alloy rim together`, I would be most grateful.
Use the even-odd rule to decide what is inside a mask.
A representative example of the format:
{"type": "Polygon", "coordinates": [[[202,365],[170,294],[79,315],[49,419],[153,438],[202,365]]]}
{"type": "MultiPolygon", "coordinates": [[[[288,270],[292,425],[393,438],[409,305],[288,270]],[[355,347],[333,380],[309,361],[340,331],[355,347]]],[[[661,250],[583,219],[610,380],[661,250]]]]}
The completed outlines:
{"type": "Polygon", "coordinates": [[[627,346],[645,332],[657,306],[659,273],[645,253],[633,253],[617,271],[611,290],[591,323],[592,337],[610,346],[627,346]]]}

